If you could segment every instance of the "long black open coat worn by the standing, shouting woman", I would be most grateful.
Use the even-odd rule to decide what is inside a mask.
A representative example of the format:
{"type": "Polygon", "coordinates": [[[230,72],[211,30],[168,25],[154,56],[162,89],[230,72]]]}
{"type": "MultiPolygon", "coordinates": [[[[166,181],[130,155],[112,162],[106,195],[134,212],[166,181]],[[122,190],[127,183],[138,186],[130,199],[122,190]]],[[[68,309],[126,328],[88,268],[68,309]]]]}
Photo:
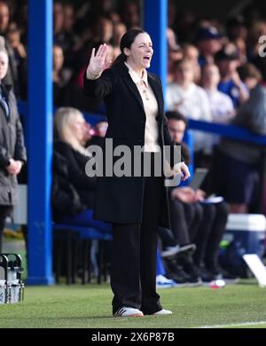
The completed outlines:
{"type": "MultiPolygon", "coordinates": [[[[148,83],[158,102],[159,144],[174,143],[168,132],[160,78],[148,73],[148,83]]],[[[132,81],[125,64],[107,69],[100,78],[88,80],[84,75],[84,93],[90,97],[104,98],[108,130],[106,138],[116,145],[145,145],[145,109],[142,98],[132,81]]],[[[171,165],[176,162],[171,162],[171,165]]],[[[163,181],[163,179],[162,179],[163,181]]],[[[168,227],[167,190],[161,206],[160,224],[168,227]]],[[[121,224],[140,224],[142,220],[144,177],[98,177],[94,217],[121,224]]]]}

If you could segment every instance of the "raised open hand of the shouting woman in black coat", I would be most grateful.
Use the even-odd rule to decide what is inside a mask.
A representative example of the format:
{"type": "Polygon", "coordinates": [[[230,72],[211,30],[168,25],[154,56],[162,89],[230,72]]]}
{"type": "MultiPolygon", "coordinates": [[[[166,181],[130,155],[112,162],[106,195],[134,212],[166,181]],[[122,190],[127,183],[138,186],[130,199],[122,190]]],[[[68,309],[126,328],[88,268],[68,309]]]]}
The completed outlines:
{"type": "Polygon", "coordinates": [[[106,43],[101,44],[96,52],[95,48],[92,49],[90,64],[88,70],[93,75],[100,75],[106,68],[110,67],[112,61],[106,61],[108,53],[108,45],[106,43]]]}

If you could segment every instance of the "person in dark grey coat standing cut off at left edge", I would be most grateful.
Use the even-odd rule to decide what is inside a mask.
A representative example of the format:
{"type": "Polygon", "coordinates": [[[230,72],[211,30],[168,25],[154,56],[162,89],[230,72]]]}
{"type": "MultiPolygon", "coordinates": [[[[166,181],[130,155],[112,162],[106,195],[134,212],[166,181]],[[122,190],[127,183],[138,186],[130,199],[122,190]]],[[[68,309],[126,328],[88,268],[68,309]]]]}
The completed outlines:
{"type": "Polygon", "coordinates": [[[8,52],[0,36],[0,252],[6,216],[17,202],[17,176],[27,160],[17,101],[10,85],[2,83],[8,71],[8,52]]]}

